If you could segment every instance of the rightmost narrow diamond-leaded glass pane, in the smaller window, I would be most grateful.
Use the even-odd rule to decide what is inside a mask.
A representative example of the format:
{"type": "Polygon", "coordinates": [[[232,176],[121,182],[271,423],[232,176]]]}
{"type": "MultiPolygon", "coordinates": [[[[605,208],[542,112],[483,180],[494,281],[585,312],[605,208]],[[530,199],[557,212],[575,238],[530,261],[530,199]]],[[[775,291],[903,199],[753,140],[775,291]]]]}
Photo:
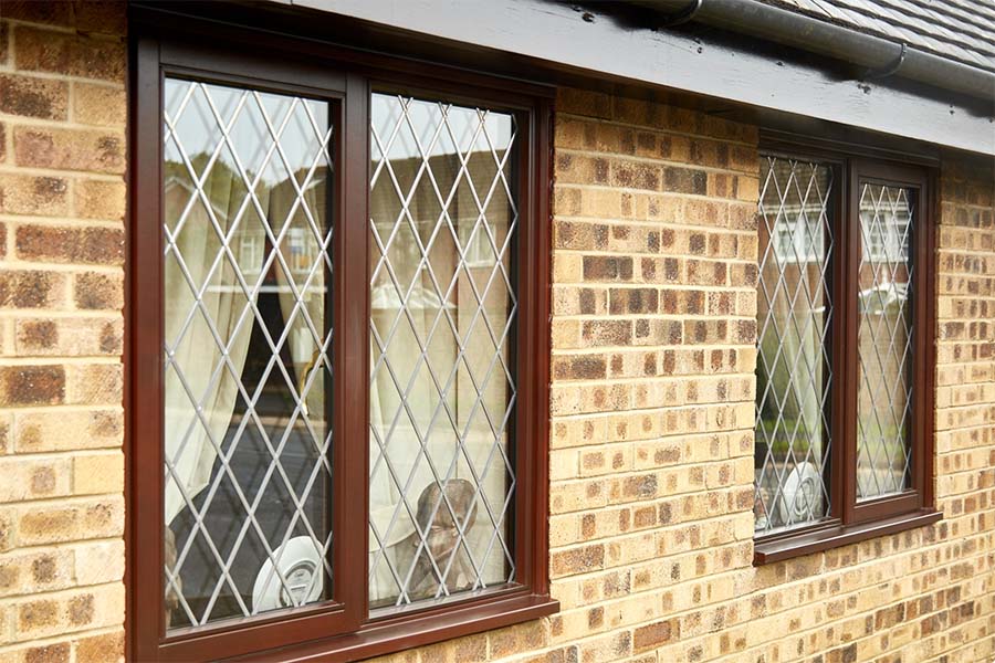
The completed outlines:
{"type": "Polygon", "coordinates": [[[909,191],[860,187],[857,497],[911,484],[912,203],[909,191]]]}

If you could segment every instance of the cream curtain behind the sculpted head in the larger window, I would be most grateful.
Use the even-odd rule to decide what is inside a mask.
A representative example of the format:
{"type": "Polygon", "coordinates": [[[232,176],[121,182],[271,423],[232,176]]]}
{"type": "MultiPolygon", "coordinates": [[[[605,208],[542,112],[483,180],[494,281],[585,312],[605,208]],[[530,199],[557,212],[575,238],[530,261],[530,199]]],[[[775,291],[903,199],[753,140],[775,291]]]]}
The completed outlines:
{"type": "MultiPolygon", "coordinates": [[[[493,177],[493,172],[486,172],[490,159],[490,154],[474,154],[470,159],[470,171],[479,181],[478,186],[486,185],[488,178],[493,177]]],[[[446,181],[447,176],[454,178],[459,170],[455,156],[433,157],[430,162],[434,177],[443,180],[440,188],[448,191],[447,185],[452,180],[446,181]]],[[[402,182],[416,181],[418,166],[419,162],[415,159],[395,159],[391,162],[398,180],[402,182]]],[[[490,166],[493,170],[492,160],[490,166]]],[[[437,481],[448,477],[472,482],[475,474],[482,481],[482,497],[491,506],[494,519],[499,520],[501,536],[505,536],[506,523],[500,518],[507,488],[507,474],[500,452],[494,451],[493,455],[491,453],[495,433],[484,410],[479,404],[474,407],[478,399],[474,379],[476,387],[483,389],[483,402],[491,424],[499,429],[496,444],[506,454],[507,432],[500,429],[509,400],[509,385],[501,362],[494,364],[486,385],[482,385],[494,359],[495,347],[481,316],[486,316],[494,335],[500,337],[509,320],[507,288],[499,273],[494,276],[490,291],[484,294],[494,270],[495,254],[488,244],[482,225],[478,228],[475,236],[471,238],[480,210],[472,198],[470,181],[463,179],[458,185],[457,193],[447,208],[447,220],[429,186],[428,177],[427,173],[421,176],[415,194],[409,199],[411,222],[401,218],[401,228],[394,231],[396,236],[387,250],[394,278],[401,288],[400,294],[391,282],[386,265],[375,274],[373,282],[371,323],[380,343],[387,343],[388,335],[394,329],[386,349],[386,362],[379,367],[377,361],[380,359],[380,348],[376,341],[370,340],[370,368],[374,376],[370,383],[369,598],[373,604],[392,603],[400,593],[399,583],[408,582],[408,591],[418,583],[418,578],[415,577],[417,573],[409,578],[415,562],[413,551],[420,541],[410,514],[417,511],[422,492],[437,481]],[[450,230],[450,222],[454,233],[450,230]],[[428,260],[425,262],[415,241],[416,230],[421,244],[428,246],[428,260]],[[457,241],[463,249],[468,269],[460,266],[457,241]],[[455,284],[450,288],[453,280],[455,284]],[[475,286],[476,296],[484,298],[484,312],[480,315],[475,315],[479,304],[471,282],[475,286]],[[447,295],[444,301],[440,291],[442,295],[447,295]],[[405,296],[406,313],[401,308],[405,296]],[[420,345],[427,345],[427,360],[422,358],[420,345]],[[392,371],[387,369],[387,364],[392,371]],[[472,369],[472,379],[468,364],[472,369]],[[429,366],[434,372],[434,379],[429,366]],[[439,407],[440,389],[446,390],[447,407],[442,408],[439,407]],[[405,390],[408,390],[407,398],[402,397],[405,390]],[[404,407],[405,402],[407,407],[404,407]],[[387,442],[386,457],[380,457],[378,438],[380,442],[387,442]],[[492,456],[490,470],[483,475],[489,456],[492,456]],[[387,461],[394,472],[392,476],[387,461]],[[395,573],[399,578],[395,578],[395,573]]],[[[401,210],[397,196],[388,188],[375,186],[370,194],[370,214],[380,238],[387,238],[391,233],[399,213],[401,210]]],[[[492,198],[486,220],[492,228],[501,228],[506,232],[511,218],[503,191],[492,198]]],[[[502,239],[503,235],[498,241],[501,242],[502,239]]],[[[503,264],[510,271],[506,255],[503,264]]],[[[507,349],[505,341],[499,350],[505,364],[509,362],[507,349]]],[[[475,572],[480,572],[489,583],[501,582],[505,578],[505,560],[499,540],[495,539],[488,555],[494,523],[482,498],[478,498],[474,506],[475,524],[468,533],[464,546],[457,552],[455,562],[446,578],[450,591],[472,585],[476,580],[475,572]],[[468,548],[476,566],[475,570],[469,562],[468,548]]],[[[440,505],[437,519],[447,517],[448,514],[442,513],[446,511],[447,506],[440,505]]],[[[449,559],[438,559],[436,562],[444,572],[449,559]]],[[[428,585],[433,594],[438,587],[434,575],[428,585]]]]}

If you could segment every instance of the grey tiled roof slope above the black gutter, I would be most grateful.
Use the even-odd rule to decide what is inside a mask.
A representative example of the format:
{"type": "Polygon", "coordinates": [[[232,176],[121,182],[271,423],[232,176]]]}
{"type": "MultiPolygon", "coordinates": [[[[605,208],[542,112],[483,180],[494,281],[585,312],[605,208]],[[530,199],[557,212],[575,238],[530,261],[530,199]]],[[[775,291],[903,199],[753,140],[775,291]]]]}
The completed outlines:
{"type": "Polygon", "coordinates": [[[995,71],[995,2],[991,0],[764,1],[995,71]]]}

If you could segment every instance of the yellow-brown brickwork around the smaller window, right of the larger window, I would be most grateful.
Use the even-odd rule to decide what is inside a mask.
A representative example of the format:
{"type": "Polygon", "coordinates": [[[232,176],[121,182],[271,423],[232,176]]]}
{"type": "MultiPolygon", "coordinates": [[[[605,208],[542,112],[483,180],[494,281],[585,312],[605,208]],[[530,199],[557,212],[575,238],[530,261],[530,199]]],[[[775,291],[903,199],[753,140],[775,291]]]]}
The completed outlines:
{"type": "MultiPolygon", "coordinates": [[[[941,169],[944,519],[755,568],[756,143],[754,127],[691,110],[561,92],[549,571],[563,610],[541,650],[489,634],[471,660],[995,660],[991,165],[941,169]]],[[[394,659],[461,661],[479,638],[394,659]]]]}

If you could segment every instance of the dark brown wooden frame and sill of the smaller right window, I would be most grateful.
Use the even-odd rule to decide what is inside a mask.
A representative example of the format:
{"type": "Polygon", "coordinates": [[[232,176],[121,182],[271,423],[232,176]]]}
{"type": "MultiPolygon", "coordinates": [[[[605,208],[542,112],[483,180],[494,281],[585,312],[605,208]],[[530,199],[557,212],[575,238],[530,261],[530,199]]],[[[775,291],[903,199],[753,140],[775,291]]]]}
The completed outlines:
{"type": "Polygon", "coordinates": [[[765,565],[829,548],[921,527],[941,519],[933,507],[934,381],[935,381],[935,198],[934,159],[865,148],[830,140],[764,131],[761,154],[819,162],[832,169],[838,182],[830,203],[832,232],[838,246],[829,266],[832,328],[827,335],[835,385],[830,393],[829,491],[830,516],[810,526],[758,536],[754,564],[765,565]],[[861,255],[858,225],[858,185],[886,183],[914,192],[918,210],[913,228],[913,325],[911,373],[915,380],[910,445],[910,490],[858,503],[857,501],[857,271],[861,255]]]}

